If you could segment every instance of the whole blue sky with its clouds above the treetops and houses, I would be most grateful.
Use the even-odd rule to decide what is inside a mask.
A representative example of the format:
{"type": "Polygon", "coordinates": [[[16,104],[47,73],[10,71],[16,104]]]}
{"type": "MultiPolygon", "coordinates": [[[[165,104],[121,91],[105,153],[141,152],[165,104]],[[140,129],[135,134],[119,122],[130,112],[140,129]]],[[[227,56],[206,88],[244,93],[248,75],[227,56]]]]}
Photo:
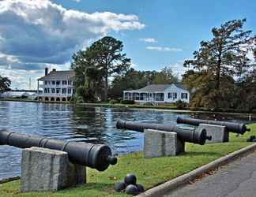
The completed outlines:
{"type": "Polygon", "coordinates": [[[45,66],[68,69],[73,51],[104,35],[122,40],[135,69],[171,66],[180,75],[184,59],[192,58],[201,40],[211,38],[211,28],[247,18],[245,29],[256,32],[253,0],[10,2],[0,2],[0,75],[9,76],[18,88],[28,87],[29,77],[36,87],[36,78],[43,75],[45,66]]]}

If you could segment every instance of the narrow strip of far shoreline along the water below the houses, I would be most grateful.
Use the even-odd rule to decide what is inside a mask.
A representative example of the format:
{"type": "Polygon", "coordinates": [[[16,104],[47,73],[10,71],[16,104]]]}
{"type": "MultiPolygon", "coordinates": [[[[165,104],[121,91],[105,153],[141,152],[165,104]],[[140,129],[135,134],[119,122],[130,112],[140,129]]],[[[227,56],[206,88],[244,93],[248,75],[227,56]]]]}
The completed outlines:
{"type": "Polygon", "coordinates": [[[248,113],[248,112],[222,112],[222,111],[211,111],[211,110],[178,110],[175,106],[142,106],[142,105],[130,105],[130,104],[111,104],[111,103],[75,103],[75,102],[45,102],[45,101],[37,101],[30,99],[0,99],[1,101],[6,102],[39,102],[39,103],[48,103],[48,104],[70,104],[75,106],[100,106],[100,107],[111,107],[111,108],[126,108],[130,110],[156,110],[156,111],[167,111],[174,113],[215,113],[215,114],[231,114],[235,116],[243,115],[256,117],[256,113],[248,113]]]}

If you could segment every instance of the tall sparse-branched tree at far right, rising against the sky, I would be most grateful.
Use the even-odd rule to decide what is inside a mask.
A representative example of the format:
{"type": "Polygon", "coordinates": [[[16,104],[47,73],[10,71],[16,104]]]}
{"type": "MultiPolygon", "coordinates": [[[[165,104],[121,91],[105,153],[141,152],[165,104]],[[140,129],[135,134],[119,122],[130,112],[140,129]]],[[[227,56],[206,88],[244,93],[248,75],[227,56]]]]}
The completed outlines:
{"type": "Polygon", "coordinates": [[[250,66],[247,58],[255,38],[251,31],[243,31],[243,20],[230,20],[213,28],[213,39],[201,41],[200,49],[194,51],[194,59],[186,60],[184,66],[207,70],[215,77],[215,88],[220,91],[221,76],[241,76],[250,66]]]}

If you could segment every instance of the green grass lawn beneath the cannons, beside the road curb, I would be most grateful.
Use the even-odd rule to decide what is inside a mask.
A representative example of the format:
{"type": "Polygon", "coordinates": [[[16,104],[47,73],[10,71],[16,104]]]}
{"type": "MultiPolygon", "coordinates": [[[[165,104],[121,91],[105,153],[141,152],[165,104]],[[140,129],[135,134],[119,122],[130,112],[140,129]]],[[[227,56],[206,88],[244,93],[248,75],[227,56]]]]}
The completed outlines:
{"type": "Polygon", "coordinates": [[[88,169],[88,184],[78,186],[77,188],[56,192],[20,193],[20,180],[16,180],[0,184],[0,196],[126,196],[125,194],[113,191],[115,183],[121,181],[126,176],[126,173],[135,173],[138,183],[143,184],[147,189],[152,188],[157,184],[212,162],[216,158],[237,151],[242,147],[247,147],[251,144],[246,142],[248,136],[256,135],[256,124],[249,127],[252,132],[247,132],[239,137],[231,134],[229,143],[207,144],[204,146],[186,143],[186,153],[176,157],[145,159],[141,152],[121,156],[117,165],[111,166],[103,173],[99,173],[94,169],[88,169]]]}

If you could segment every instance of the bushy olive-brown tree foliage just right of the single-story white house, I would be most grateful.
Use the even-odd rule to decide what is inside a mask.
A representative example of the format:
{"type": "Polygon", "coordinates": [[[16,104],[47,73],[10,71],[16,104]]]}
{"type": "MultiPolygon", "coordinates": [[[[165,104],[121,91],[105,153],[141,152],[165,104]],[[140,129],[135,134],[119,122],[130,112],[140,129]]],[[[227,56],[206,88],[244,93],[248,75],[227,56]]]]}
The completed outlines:
{"type": "Polygon", "coordinates": [[[221,76],[220,91],[215,89],[216,80],[209,72],[188,70],[183,75],[183,84],[190,91],[190,106],[207,109],[232,108],[235,106],[235,81],[230,76],[221,76]]]}

